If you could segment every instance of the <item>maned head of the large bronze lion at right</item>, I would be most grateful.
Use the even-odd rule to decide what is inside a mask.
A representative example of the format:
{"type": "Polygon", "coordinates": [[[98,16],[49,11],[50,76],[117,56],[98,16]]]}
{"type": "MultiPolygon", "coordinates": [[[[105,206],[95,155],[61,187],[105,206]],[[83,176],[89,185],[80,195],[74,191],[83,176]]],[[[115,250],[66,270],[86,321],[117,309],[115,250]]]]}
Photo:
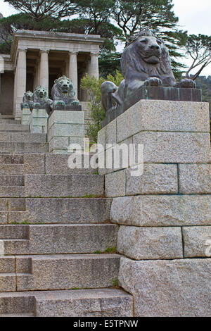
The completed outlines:
{"type": "Polygon", "coordinates": [[[127,75],[128,68],[135,72],[146,73],[148,77],[172,76],[170,56],[162,39],[146,28],[129,37],[121,59],[122,73],[127,75]]]}

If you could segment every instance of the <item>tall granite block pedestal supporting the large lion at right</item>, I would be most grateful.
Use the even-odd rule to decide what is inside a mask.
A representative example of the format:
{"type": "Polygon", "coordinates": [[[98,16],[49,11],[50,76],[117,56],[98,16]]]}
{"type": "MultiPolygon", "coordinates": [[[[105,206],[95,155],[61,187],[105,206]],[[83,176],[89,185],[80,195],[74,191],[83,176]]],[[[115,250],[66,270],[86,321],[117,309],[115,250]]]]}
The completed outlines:
{"type": "Polygon", "coordinates": [[[103,127],[98,143],[104,156],[106,144],[143,144],[143,175],[124,165],[100,170],[134,315],[211,316],[208,104],[139,101],[103,127]]]}

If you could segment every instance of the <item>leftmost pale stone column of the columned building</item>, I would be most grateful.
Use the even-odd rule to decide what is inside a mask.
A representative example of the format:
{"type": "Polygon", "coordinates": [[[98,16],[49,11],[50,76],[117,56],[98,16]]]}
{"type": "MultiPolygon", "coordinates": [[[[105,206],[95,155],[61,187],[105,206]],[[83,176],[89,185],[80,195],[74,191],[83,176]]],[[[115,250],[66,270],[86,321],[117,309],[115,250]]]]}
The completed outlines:
{"type": "Polygon", "coordinates": [[[20,104],[23,101],[23,95],[26,92],[27,75],[27,49],[18,49],[17,66],[15,70],[14,87],[14,117],[20,118],[20,104]]]}

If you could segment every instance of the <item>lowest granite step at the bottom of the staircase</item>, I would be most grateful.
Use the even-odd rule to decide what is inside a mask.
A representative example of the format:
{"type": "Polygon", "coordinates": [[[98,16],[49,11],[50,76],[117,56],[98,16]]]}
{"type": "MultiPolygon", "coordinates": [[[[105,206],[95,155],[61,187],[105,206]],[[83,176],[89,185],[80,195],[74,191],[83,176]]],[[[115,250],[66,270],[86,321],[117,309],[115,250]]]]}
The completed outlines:
{"type": "Polygon", "coordinates": [[[122,289],[0,294],[0,317],[132,317],[133,299],[122,289]]]}

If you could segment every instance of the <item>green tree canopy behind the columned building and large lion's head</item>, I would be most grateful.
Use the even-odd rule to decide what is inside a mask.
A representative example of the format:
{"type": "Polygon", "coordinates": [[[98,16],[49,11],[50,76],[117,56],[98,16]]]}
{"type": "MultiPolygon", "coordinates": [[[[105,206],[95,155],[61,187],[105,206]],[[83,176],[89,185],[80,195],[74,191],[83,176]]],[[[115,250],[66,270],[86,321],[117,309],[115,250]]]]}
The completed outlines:
{"type": "Polygon", "coordinates": [[[172,0],[4,1],[20,11],[20,14],[11,18],[0,19],[0,29],[6,27],[8,34],[8,39],[4,38],[2,45],[8,49],[11,35],[17,28],[98,34],[105,38],[100,63],[103,76],[106,77],[111,72],[106,63],[109,52],[112,52],[110,67],[120,68],[120,56],[115,52],[117,42],[125,42],[129,35],[143,27],[150,27],[170,49],[174,74],[179,77],[184,69],[179,57],[184,55],[180,48],[186,44],[187,35],[178,30],[178,18],[174,14],[172,0]]]}

